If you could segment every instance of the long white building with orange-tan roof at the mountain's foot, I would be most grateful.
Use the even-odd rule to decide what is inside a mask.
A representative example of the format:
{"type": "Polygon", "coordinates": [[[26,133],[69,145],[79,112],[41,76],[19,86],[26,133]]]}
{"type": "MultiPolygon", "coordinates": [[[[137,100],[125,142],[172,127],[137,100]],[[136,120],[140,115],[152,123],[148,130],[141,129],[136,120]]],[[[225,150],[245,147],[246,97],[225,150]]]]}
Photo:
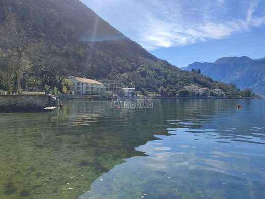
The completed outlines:
{"type": "Polygon", "coordinates": [[[80,77],[68,78],[73,82],[75,94],[80,95],[102,95],[106,93],[104,85],[96,80],[80,77]]]}

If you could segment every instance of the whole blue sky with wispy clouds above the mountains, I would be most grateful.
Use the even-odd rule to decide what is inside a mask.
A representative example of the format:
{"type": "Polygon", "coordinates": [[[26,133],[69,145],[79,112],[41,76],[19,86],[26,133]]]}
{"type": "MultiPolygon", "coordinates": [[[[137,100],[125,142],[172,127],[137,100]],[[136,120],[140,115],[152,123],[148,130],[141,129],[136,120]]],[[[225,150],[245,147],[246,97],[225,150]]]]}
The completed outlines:
{"type": "Polygon", "coordinates": [[[81,0],[178,67],[225,56],[265,57],[265,0],[81,0]]]}

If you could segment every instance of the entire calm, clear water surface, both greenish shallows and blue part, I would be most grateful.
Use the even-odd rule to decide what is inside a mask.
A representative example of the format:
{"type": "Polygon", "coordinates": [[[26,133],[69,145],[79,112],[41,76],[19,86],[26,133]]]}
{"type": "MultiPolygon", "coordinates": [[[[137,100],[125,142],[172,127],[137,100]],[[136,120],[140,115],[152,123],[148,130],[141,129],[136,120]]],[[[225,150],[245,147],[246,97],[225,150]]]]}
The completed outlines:
{"type": "Polygon", "coordinates": [[[149,102],[0,113],[0,198],[264,198],[264,100],[149,102]]]}

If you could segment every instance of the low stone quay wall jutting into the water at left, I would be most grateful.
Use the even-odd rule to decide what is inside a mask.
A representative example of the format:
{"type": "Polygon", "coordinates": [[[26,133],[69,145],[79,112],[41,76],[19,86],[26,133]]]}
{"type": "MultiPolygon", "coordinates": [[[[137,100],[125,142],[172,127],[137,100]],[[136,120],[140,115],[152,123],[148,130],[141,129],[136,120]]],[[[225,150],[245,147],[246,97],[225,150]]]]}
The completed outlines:
{"type": "Polygon", "coordinates": [[[0,95],[0,107],[44,108],[49,105],[47,95],[0,95]]]}

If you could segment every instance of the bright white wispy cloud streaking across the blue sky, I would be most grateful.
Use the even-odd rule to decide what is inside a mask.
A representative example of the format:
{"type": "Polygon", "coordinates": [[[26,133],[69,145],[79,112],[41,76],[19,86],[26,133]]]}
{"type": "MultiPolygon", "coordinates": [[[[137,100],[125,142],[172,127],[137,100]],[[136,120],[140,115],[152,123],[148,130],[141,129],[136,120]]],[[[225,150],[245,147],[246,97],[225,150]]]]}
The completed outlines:
{"type": "MultiPolygon", "coordinates": [[[[163,3],[163,1],[160,1],[163,3]]],[[[214,2],[214,1],[212,1],[214,2]]],[[[211,4],[211,7],[200,6],[199,8],[187,8],[188,13],[184,13],[184,6],[173,9],[174,12],[180,13],[179,16],[171,15],[170,6],[164,4],[167,10],[164,13],[146,13],[146,26],[139,31],[138,42],[147,49],[156,49],[161,47],[185,46],[196,42],[223,39],[229,37],[233,33],[248,31],[251,27],[259,27],[265,24],[265,17],[253,16],[258,6],[258,1],[249,3],[248,9],[242,9],[245,16],[223,17],[223,13],[218,13],[222,8],[218,4],[225,4],[223,1],[217,1],[211,4]],[[213,8],[216,6],[216,8],[213,8]],[[198,13],[200,12],[200,13],[198,13]],[[216,12],[216,13],[215,13],[216,12]],[[168,19],[161,20],[160,17],[168,16],[168,19]],[[196,16],[198,18],[189,17],[187,15],[196,16]],[[217,18],[220,16],[220,20],[217,18]],[[179,20],[179,18],[181,20],[179,20]]],[[[245,2],[246,3],[246,2],[245,2]]],[[[221,5],[226,6],[226,5],[221,5]]],[[[223,8],[226,9],[226,8],[223,8]]],[[[236,9],[236,8],[234,8],[236,9]]]]}

